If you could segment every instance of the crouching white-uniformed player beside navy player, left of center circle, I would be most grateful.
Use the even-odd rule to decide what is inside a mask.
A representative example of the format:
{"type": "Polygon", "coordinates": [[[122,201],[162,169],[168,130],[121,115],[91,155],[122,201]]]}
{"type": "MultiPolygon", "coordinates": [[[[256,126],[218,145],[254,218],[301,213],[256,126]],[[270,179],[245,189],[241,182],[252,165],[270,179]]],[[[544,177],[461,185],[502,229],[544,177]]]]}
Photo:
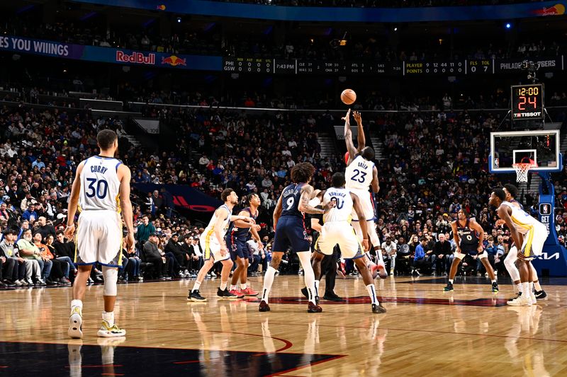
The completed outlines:
{"type": "Polygon", "coordinates": [[[195,284],[193,284],[193,289],[189,292],[187,299],[190,301],[207,301],[206,298],[199,294],[199,287],[215,262],[221,262],[223,264],[223,270],[220,272],[220,287],[217,291],[217,296],[220,298],[237,298],[235,294],[231,294],[226,288],[228,275],[230,275],[230,269],[232,269],[232,260],[230,259],[228,248],[226,247],[225,235],[228,231],[230,221],[242,220],[243,224],[241,227],[246,224],[252,226],[256,224],[256,221],[254,221],[252,217],[236,216],[232,214],[232,208],[238,203],[238,195],[236,195],[234,190],[225,189],[220,194],[220,199],[223,200],[225,204],[216,209],[199,240],[201,248],[203,248],[203,260],[205,260],[205,264],[199,269],[197,279],[195,284]]]}

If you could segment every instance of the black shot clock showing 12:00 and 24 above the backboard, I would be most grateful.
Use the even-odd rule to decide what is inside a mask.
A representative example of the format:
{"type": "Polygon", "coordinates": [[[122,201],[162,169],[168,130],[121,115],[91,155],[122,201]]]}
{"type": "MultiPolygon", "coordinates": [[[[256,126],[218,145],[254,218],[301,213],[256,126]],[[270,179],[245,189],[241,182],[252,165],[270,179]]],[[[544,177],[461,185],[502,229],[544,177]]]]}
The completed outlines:
{"type": "Polygon", "coordinates": [[[512,86],[512,120],[544,120],[544,85],[512,86]]]}

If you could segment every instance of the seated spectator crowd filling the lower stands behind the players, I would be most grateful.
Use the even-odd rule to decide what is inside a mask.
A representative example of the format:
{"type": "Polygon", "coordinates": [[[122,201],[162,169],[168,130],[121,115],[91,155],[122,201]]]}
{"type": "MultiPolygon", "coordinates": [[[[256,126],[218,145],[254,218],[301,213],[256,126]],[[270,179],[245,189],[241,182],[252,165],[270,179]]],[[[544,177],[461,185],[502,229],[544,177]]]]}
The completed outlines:
{"type": "MultiPolygon", "coordinates": [[[[332,173],[344,170],[344,147],[335,146],[335,153],[323,156],[318,139],[322,130],[340,124],[339,116],[305,114],[179,108],[161,114],[177,137],[169,151],[156,151],[131,145],[119,120],[94,119],[88,110],[5,105],[0,109],[1,284],[73,281],[74,243],[62,233],[67,199],[74,168],[96,154],[96,132],[103,128],[115,129],[120,136],[120,158],[132,169],[133,183],[189,185],[213,197],[226,187],[239,197],[257,193],[262,199],[258,223],[265,251],[251,246],[250,273],[264,270],[274,236],[271,214],[290,182],[291,168],[312,163],[315,187],[327,187],[332,173]]],[[[376,196],[376,226],[391,272],[446,272],[454,249],[450,223],[459,209],[481,224],[490,260],[503,272],[499,264],[509,250],[510,233],[495,226],[488,195],[505,181],[488,173],[485,153],[490,130],[500,119],[487,112],[454,110],[363,112],[363,117],[367,142],[378,137],[381,155],[386,156],[377,164],[381,190],[376,196]]],[[[563,170],[553,176],[556,230],[563,244],[566,174],[563,170]]],[[[537,215],[534,193],[521,192],[518,199],[537,215]]],[[[181,216],[166,190],[138,192],[134,202],[137,248],[133,254],[124,250],[120,279],[194,277],[203,263],[198,244],[203,228],[198,221],[181,216]]],[[[284,260],[288,263],[283,263],[282,273],[297,271],[293,255],[284,260]]],[[[357,274],[348,262],[344,273],[357,274]]],[[[473,255],[464,260],[461,273],[483,270],[473,255]]],[[[213,269],[210,275],[215,274],[213,269]]],[[[99,269],[93,269],[91,279],[101,280],[99,269]]]]}

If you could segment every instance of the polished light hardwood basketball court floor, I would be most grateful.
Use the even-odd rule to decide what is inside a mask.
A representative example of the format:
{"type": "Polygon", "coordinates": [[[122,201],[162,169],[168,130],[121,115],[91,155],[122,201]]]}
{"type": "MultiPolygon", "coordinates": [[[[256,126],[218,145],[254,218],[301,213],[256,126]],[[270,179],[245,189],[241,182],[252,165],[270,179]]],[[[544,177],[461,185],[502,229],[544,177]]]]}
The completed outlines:
{"type": "MultiPolygon", "coordinates": [[[[262,288],[262,277],[250,282],[262,288]]],[[[276,277],[269,313],[258,312],[257,298],[219,301],[218,279],[201,286],[206,303],[186,300],[192,279],[120,284],[125,340],[96,337],[103,287],[89,286],[82,341],[67,339],[70,288],[0,291],[0,375],[567,375],[567,279],[544,280],[546,301],[517,308],[505,304],[505,282],[498,294],[485,279],[458,279],[451,294],[444,282],[376,280],[385,314],[371,313],[356,278],[337,279],[349,300],[322,301],[316,314],[306,313],[302,277],[276,277]]]]}

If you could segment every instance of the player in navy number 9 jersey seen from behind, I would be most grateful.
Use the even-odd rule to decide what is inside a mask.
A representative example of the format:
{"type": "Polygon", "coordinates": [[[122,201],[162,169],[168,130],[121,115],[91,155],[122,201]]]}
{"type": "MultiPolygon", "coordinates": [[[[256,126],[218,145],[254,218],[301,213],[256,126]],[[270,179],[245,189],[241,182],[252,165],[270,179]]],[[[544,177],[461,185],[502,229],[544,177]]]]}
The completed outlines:
{"type": "Polygon", "coordinates": [[[276,204],[274,209],[274,228],[276,236],[272,246],[270,266],[264,275],[264,288],[262,289],[262,301],[260,301],[259,311],[269,311],[268,295],[271,284],[274,283],[276,269],[278,269],[283,253],[291,245],[293,253],[297,253],[305,286],[307,286],[309,304],[308,313],[320,313],[322,308],[315,303],[315,275],[310,263],[310,243],[305,230],[303,213],[323,214],[335,206],[334,202],[329,202],[323,209],[317,209],[309,204],[313,199],[313,187],[309,184],[315,168],[310,163],[298,163],[291,169],[291,185],[288,185],[276,204]]]}

